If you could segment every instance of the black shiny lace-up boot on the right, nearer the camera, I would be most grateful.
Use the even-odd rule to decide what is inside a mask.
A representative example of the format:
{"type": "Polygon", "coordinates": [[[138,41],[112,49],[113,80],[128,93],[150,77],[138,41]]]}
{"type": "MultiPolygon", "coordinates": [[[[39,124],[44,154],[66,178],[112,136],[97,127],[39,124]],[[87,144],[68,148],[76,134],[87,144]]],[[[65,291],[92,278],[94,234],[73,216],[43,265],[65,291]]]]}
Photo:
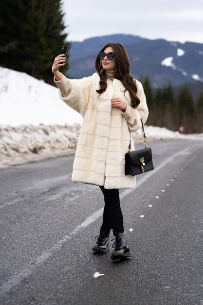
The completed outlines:
{"type": "Polygon", "coordinates": [[[114,251],[111,254],[111,259],[113,261],[131,256],[131,253],[127,246],[126,237],[122,232],[115,234],[115,241],[112,245],[112,248],[114,248],[114,251]]]}

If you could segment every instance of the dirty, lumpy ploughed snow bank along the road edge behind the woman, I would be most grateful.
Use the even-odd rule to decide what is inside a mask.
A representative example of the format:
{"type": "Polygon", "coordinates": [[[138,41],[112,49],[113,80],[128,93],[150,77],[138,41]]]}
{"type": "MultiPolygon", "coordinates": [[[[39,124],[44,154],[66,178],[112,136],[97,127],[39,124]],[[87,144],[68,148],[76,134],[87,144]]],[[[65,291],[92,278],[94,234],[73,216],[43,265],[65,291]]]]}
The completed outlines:
{"type": "MultiPolygon", "coordinates": [[[[74,153],[80,125],[0,126],[0,168],[58,154],[74,153]]],[[[166,128],[145,126],[148,142],[161,139],[201,139],[203,134],[181,134],[166,128]]],[[[133,133],[135,143],[143,142],[141,130],[133,133]]]]}

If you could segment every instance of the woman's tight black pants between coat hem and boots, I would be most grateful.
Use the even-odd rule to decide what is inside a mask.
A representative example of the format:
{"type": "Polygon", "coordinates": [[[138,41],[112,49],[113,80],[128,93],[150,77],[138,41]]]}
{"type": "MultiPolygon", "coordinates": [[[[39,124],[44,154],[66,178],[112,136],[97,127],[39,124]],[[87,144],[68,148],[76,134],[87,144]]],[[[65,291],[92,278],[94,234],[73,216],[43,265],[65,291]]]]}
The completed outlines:
{"type": "Polygon", "coordinates": [[[106,190],[103,186],[100,187],[104,194],[104,213],[102,230],[109,234],[113,229],[113,234],[124,232],[123,214],[120,207],[119,190],[106,190]]]}

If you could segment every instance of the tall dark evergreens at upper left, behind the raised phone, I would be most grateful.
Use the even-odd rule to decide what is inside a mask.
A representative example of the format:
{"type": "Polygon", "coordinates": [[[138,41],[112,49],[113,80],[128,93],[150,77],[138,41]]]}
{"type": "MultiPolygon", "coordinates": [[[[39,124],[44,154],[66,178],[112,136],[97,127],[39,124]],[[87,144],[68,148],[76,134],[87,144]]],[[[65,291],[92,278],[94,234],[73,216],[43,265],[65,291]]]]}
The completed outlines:
{"type": "Polygon", "coordinates": [[[0,20],[0,65],[52,83],[54,58],[67,44],[61,0],[1,1],[0,20]]]}

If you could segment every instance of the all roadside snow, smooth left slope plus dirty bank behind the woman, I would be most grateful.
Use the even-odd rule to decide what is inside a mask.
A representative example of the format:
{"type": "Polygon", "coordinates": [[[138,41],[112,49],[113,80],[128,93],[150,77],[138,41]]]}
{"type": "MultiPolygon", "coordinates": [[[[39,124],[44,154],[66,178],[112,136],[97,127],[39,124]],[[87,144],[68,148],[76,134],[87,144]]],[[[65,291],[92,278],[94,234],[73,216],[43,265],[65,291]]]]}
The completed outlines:
{"type": "MultiPolygon", "coordinates": [[[[82,117],[62,100],[57,89],[25,73],[0,67],[0,167],[73,152],[82,117]]],[[[148,141],[202,139],[166,128],[145,126],[148,141]]],[[[133,133],[143,141],[141,130],[133,133]]]]}

